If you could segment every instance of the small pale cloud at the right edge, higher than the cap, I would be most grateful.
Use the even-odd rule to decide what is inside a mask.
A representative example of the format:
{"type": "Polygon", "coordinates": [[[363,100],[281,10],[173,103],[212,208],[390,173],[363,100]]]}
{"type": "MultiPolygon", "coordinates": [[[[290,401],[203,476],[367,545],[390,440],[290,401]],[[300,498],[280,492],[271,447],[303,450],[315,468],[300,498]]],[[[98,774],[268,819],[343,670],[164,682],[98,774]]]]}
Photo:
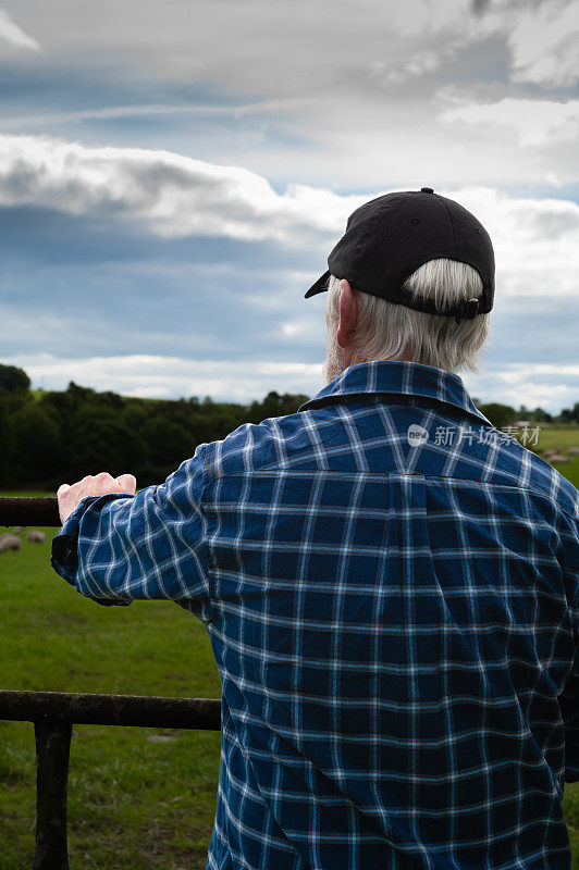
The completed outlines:
{"type": "Polygon", "coordinates": [[[510,127],[521,146],[572,141],[579,136],[579,100],[527,100],[506,97],[494,103],[467,103],[446,109],[441,121],[464,121],[481,127],[510,127]]]}

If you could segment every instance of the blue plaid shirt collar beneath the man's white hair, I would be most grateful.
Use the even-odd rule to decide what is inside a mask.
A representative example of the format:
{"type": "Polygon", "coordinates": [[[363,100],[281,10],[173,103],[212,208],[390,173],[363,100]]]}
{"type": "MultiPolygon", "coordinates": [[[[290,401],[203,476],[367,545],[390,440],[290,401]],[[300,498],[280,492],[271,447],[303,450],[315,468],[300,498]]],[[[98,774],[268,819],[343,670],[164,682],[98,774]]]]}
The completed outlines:
{"type": "Polygon", "coordinates": [[[298,411],[307,411],[325,405],[340,403],[344,397],[365,396],[387,393],[395,401],[396,395],[416,398],[420,406],[420,398],[426,399],[426,405],[432,401],[442,402],[459,408],[465,413],[476,417],[486,425],[492,423],[482,414],[472,402],[463,380],[454,372],[435,369],[433,365],[423,365],[420,362],[399,360],[374,360],[348,365],[338,377],[331,381],[317,396],[306,401],[298,411]]]}

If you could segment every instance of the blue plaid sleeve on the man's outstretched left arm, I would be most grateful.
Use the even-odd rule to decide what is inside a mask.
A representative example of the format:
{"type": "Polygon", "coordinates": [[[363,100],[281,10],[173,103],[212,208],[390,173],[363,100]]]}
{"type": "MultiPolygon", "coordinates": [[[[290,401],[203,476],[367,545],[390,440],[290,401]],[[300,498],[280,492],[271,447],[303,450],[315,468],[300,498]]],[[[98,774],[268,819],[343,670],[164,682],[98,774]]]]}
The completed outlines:
{"type": "Polygon", "coordinates": [[[168,598],[207,621],[204,447],[163,484],[83,499],[52,539],[54,571],[101,605],[168,598]]]}

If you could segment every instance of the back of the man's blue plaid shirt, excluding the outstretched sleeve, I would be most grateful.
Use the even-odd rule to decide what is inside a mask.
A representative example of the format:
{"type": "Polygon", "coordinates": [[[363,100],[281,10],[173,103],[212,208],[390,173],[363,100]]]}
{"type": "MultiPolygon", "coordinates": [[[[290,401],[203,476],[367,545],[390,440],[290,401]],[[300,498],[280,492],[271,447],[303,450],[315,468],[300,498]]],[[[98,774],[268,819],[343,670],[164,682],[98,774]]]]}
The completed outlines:
{"type": "Polygon", "coordinates": [[[458,384],[355,365],[327,405],[208,446],[209,867],[570,867],[577,492],[484,443],[458,384]]]}

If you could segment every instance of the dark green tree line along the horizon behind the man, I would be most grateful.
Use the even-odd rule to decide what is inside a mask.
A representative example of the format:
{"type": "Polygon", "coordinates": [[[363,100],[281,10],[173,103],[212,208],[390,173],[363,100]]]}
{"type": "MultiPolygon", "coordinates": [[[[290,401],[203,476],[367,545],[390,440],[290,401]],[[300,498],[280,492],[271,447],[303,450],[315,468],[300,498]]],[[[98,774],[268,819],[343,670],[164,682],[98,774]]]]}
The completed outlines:
{"type": "MultiPolygon", "coordinates": [[[[309,398],[272,390],[250,405],[209,396],[138,399],[72,381],[65,390],[33,391],[25,371],[0,364],[0,487],[54,490],[99,471],[131,472],[139,486],[162,483],[198,444],[224,438],[242,423],[295,413],[309,398]]],[[[558,417],[541,408],[475,403],[497,428],[522,419],[579,423],[579,402],[558,417]]]]}

